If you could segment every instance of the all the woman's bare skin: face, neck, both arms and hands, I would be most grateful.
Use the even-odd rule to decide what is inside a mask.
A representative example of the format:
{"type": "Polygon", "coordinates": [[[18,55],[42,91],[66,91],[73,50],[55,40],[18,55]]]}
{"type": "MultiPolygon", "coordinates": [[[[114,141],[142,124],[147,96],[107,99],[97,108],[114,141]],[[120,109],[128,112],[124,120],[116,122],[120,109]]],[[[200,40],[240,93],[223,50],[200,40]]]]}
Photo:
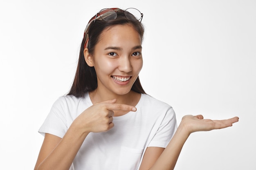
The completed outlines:
{"type": "MultiPolygon", "coordinates": [[[[74,157],[90,132],[106,132],[114,123],[113,116],[136,111],[140,94],[131,91],[142,68],[141,38],[130,25],[117,25],[103,31],[94,55],[84,50],[85,61],[94,66],[98,87],[89,93],[93,105],[84,110],[61,139],[45,134],[35,170],[69,170],[74,157]],[[120,82],[113,76],[130,79],[120,82]]],[[[186,115],[166,148],[148,147],[139,170],[173,170],[182,146],[189,135],[232,126],[238,117],[227,120],[203,119],[186,115]]]]}

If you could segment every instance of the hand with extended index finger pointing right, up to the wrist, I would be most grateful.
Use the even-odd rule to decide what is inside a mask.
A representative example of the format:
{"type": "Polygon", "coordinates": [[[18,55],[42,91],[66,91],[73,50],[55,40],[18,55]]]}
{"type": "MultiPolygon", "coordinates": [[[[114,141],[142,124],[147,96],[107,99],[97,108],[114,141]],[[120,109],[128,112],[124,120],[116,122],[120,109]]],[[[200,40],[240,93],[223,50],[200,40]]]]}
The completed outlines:
{"type": "Polygon", "coordinates": [[[134,106],[116,104],[117,99],[96,103],[84,110],[72,124],[85,133],[106,132],[114,127],[114,110],[136,111],[134,106]]]}

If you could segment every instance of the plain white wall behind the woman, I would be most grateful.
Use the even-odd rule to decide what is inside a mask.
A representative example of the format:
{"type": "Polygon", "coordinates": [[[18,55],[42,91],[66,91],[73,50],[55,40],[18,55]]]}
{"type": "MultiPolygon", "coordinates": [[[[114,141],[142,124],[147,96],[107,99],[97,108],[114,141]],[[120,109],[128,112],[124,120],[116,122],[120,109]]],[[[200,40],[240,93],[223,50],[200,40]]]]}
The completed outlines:
{"type": "Polygon", "coordinates": [[[175,170],[255,170],[256,1],[0,1],[1,169],[29,170],[37,130],[74,78],[88,20],[100,9],[144,13],[146,92],[186,114],[238,116],[231,128],[193,133],[175,170]]]}

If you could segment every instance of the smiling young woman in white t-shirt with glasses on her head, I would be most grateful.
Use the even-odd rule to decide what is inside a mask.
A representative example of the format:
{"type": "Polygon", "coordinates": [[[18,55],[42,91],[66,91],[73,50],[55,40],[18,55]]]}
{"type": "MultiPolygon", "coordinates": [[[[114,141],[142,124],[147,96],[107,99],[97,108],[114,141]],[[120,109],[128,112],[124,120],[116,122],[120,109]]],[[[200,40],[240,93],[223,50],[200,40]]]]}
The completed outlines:
{"type": "Polygon", "coordinates": [[[192,132],[238,121],[186,115],[139,82],[143,14],[103,9],[88,23],[70,92],[52,106],[35,170],[173,170],[192,132]],[[115,126],[114,126],[115,125],[115,126]]]}

